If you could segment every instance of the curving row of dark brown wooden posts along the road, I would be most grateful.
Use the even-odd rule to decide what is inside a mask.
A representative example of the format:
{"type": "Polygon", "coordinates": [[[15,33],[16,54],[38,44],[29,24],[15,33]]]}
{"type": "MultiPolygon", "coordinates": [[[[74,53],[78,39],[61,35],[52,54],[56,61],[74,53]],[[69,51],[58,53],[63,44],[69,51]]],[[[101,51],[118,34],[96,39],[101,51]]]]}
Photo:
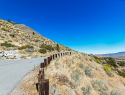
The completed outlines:
{"type": "Polygon", "coordinates": [[[47,59],[44,59],[44,62],[40,64],[40,70],[38,74],[39,95],[49,95],[49,79],[45,79],[45,68],[47,69],[47,65],[50,64],[51,60],[63,57],[65,55],[71,55],[71,52],[53,54],[50,57],[47,57],[47,59]]]}

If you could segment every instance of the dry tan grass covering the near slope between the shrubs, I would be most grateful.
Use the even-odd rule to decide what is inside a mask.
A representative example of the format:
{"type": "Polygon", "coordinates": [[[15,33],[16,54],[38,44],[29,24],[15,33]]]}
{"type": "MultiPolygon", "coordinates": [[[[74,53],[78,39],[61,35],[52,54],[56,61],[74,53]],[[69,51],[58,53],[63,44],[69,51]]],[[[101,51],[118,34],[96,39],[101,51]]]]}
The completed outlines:
{"type": "MultiPolygon", "coordinates": [[[[125,95],[125,78],[117,75],[114,73],[115,77],[109,77],[105,71],[102,69],[102,66],[94,61],[87,61],[85,58],[87,57],[88,59],[90,58],[89,56],[82,56],[84,60],[80,58],[76,58],[78,54],[73,54],[72,56],[65,56],[60,58],[59,60],[53,60],[51,61],[50,65],[48,65],[47,70],[45,71],[46,74],[46,79],[49,79],[49,87],[53,87],[53,85],[56,85],[55,89],[55,95],[82,95],[83,91],[81,90],[81,87],[84,86],[86,87],[89,85],[92,88],[91,94],[92,95],[100,95],[99,91],[95,91],[94,88],[92,87],[91,81],[92,80],[105,80],[106,83],[108,84],[108,90],[107,93],[110,93],[112,90],[116,90],[122,95],[125,95]],[[68,66],[67,63],[71,63],[71,66],[68,66]],[[72,59],[74,59],[74,63],[72,64],[72,59]],[[85,75],[85,70],[80,68],[77,63],[81,62],[85,66],[89,66],[92,69],[92,72],[94,73],[94,78],[90,78],[87,75],[85,75]],[[60,66],[59,68],[56,68],[55,62],[59,62],[60,66]],[[92,65],[92,67],[90,66],[92,65]],[[81,72],[84,72],[84,75],[79,75],[79,80],[76,82],[75,88],[72,88],[71,86],[71,81],[73,79],[71,78],[71,73],[72,71],[79,69],[81,72]],[[64,81],[60,81],[58,79],[60,75],[66,76],[66,79],[63,79],[64,81]],[[79,84],[78,84],[79,83],[79,84]]],[[[34,78],[37,76],[38,70],[33,70],[31,71],[31,74],[29,73],[27,75],[27,78],[19,85],[20,90],[23,88],[25,89],[24,92],[27,94],[24,95],[38,95],[37,90],[35,88],[35,85],[33,85],[34,78]],[[30,81],[28,81],[28,76],[30,76],[30,81]],[[28,94],[29,93],[29,94],[28,94]]],[[[38,79],[36,79],[38,80],[38,79]]],[[[16,89],[15,89],[16,91],[16,89]]],[[[21,90],[22,91],[22,90],[21,90]]],[[[50,95],[52,95],[52,92],[54,91],[53,89],[50,89],[50,95]]],[[[14,92],[14,91],[13,91],[14,92]]]]}

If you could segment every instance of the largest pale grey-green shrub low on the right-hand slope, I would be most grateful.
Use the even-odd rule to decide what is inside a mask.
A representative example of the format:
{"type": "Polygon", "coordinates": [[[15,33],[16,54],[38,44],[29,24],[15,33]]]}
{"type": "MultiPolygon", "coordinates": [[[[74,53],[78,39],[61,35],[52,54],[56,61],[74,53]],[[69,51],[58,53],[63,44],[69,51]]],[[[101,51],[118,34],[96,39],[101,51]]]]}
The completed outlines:
{"type": "Polygon", "coordinates": [[[92,80],[91,84],[94,90],[97,91],[108,90],[108,84],[104,80],[92,80]]]}

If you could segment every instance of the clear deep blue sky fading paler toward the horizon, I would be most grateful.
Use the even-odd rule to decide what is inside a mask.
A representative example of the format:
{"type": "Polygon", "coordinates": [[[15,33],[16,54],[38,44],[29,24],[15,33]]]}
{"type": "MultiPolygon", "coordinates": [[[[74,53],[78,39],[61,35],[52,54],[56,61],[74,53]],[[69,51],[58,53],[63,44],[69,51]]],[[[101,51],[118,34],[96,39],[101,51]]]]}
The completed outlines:
{"type": "Polygon", "coordinates": [[[76,51],[125,51],[125,0],[1,0],[0,18],[76,51]]]}

